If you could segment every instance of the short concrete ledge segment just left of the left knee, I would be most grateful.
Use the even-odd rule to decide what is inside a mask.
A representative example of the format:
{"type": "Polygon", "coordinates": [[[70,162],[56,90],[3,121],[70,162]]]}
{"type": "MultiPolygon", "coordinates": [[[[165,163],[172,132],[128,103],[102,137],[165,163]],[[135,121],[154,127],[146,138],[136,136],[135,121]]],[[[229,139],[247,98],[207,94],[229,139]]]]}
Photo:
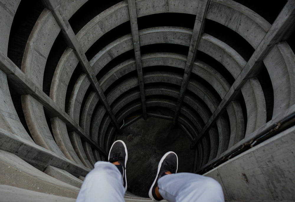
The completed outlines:
{"type": "Polygon", "coordinates": [[[53,178],[56,178],[60,181],[63,181],[69,185],[81,188],[83,181],[76,178],[74,175],[68,173],[65,170],[62,170],[60,168],[55,168],[53,166],[48,166],[46,170],[44,170],[44,173],[47,175],[50,175],[53,178]]]}

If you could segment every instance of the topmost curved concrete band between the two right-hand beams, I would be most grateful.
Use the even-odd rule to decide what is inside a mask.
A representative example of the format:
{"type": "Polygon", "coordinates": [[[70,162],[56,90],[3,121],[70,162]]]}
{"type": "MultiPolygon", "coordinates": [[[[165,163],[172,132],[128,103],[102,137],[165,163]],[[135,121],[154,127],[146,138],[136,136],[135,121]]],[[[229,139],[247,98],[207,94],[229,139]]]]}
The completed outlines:
{"type": "Polygon", "coordinates": [[[258,47],[271,27],[271,24],[257,13],[232,0],[210,1],[206,18],[234,30],[253,48],[258,47]]]}

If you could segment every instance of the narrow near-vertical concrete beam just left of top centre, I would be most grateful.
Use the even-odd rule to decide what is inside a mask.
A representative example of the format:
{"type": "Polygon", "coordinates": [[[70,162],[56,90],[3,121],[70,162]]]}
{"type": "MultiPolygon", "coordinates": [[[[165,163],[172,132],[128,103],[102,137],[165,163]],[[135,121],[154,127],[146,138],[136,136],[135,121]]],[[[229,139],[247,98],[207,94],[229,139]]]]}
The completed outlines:
{"type": "Polygon", "coordinates": [[[146,120],[147,110],[146,110],[146,104],[145,104],[145,89],[143,85],[140,43],[139,43],[135,0],[128,0],[128,10],[129,10],[129,17],[130,17],[131,34],[132,34],[132,39],[134,44],[134,55],[135,55],[135,61],[136,61],[136,67],[137,67],[138,82],[139,82],[139,88],[140,88],[142,115],[143,115],[143,119],[146,120]]]}

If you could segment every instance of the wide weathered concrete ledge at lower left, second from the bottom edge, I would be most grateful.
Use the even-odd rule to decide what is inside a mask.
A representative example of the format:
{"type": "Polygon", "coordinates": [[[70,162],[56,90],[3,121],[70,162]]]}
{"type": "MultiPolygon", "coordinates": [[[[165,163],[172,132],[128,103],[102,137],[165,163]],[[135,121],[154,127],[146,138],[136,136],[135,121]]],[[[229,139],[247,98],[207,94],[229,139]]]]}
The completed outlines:
{"type": "Polygon", "coordinates": [[[77,197],[79,188],[46,175],[12,153],[1,150],[0,154],[1,184],[58,196],[77,197]]]}

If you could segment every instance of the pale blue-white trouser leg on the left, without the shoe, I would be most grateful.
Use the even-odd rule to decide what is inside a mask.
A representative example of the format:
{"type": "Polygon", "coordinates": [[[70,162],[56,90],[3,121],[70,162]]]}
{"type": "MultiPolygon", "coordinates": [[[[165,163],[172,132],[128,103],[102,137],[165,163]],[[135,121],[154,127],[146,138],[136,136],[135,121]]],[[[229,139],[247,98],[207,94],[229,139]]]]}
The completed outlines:
{"type": "Polygon", "coordinates": [[[98,161],[86,175],[76,202],[124,202],[124,194],[119,169],[110,162],[98,161]]]}

